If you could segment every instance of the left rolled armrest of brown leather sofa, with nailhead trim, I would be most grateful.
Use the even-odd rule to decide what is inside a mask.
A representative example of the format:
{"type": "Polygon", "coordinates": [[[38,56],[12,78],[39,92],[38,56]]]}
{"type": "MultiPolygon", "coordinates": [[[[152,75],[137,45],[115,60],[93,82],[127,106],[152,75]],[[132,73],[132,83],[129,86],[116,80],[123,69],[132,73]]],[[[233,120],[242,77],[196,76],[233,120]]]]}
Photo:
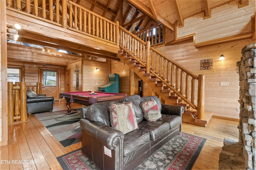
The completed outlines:
{"type": "Polygon", "coordinates": [[[80,128],[110,150],[123,148],[124,135],[114,127],[84,118],[80,119],[80,128]]]}

